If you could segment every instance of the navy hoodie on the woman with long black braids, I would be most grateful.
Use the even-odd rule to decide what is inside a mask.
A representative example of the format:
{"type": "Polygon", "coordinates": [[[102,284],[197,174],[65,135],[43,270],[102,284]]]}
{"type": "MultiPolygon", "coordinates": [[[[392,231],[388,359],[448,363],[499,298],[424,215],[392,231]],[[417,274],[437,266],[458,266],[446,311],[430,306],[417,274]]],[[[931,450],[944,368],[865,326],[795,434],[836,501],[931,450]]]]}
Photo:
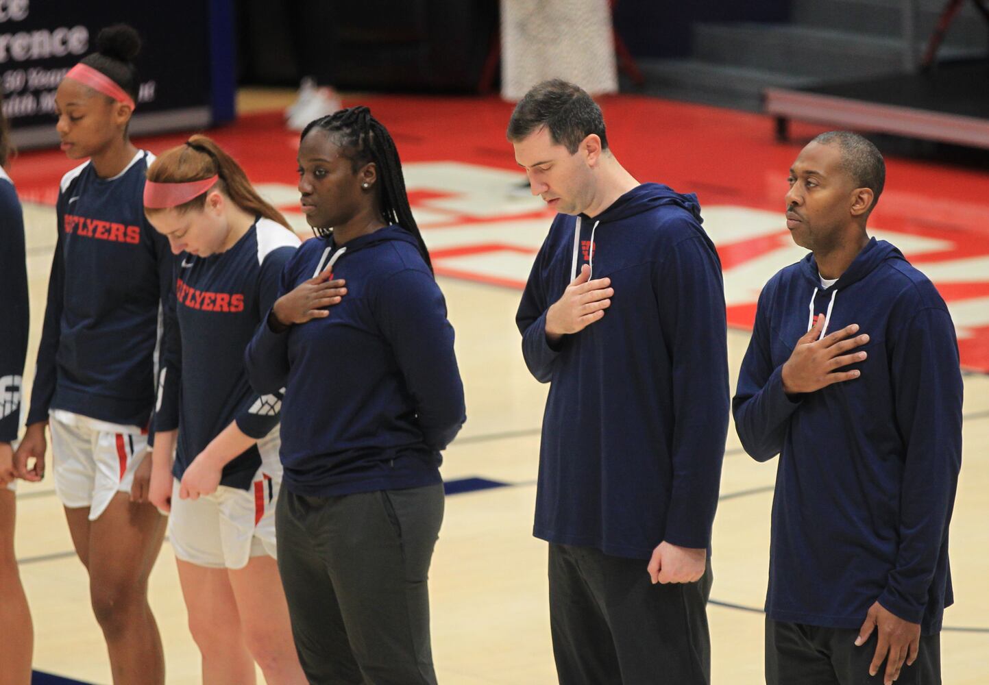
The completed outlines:
{"type": "Polygon", "coordinates": [[[331,496],[441,481],[440,450],[466,416],[446,302],[414,237],[391,225],[337,246],[303,243],[279,297],[330,265],[347,294],[329,316],[247,347],[259,394],[285,388],[281,458],[296,494],[331,496]]]}

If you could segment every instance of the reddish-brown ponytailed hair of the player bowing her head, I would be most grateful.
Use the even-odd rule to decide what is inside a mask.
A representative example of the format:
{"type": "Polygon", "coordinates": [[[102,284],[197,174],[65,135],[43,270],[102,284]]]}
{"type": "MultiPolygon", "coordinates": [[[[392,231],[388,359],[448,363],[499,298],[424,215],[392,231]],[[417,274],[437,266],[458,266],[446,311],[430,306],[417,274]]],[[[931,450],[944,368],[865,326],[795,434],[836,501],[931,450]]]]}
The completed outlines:
{"type": "MultiPolygon", "coordinates": [[[[154,183],[186,183],[211,176],[220,176],[214,188],[244,212],[260,214],[293,230],[285,216],[257,194],[233,157],[205,135],[193,135],[184,144],[165,150],[147,168],[147,180],[154,183]]],[[[206,208],[207,195],[209,193],[203,193],[175,209],[180,213],[202,211],[206,208]]],[[[145,209],[144,212],[153,214],[161,210],[145,209]]]]}

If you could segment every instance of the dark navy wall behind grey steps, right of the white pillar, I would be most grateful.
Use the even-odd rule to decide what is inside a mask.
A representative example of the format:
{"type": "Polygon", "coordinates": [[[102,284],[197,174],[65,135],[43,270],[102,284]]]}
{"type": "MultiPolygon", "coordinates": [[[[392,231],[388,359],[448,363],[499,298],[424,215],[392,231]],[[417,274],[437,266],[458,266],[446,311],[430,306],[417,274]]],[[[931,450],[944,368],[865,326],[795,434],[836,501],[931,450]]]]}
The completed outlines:
{"type": "Polygon", "coordinates": [[[618,0],[614,23],[635,56],[676,57],[689,54],[695,22],[785,22],[789,10],[790,0],[618,0]]]}

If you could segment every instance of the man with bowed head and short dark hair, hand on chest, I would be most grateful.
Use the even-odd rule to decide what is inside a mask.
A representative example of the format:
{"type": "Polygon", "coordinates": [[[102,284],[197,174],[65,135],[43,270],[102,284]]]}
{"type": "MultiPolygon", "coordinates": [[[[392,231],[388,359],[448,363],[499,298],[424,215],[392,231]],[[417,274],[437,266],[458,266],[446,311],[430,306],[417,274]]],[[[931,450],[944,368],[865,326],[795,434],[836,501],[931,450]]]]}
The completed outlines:
{"type": "Polygon", "coordinates": [[[696,197],[636,181],[579,87],[535,86],[507,136],[559,213],[516,322],[551,383],[533,532],[560,682],[708,683],[729,410],[717,252],[696,197]]]}

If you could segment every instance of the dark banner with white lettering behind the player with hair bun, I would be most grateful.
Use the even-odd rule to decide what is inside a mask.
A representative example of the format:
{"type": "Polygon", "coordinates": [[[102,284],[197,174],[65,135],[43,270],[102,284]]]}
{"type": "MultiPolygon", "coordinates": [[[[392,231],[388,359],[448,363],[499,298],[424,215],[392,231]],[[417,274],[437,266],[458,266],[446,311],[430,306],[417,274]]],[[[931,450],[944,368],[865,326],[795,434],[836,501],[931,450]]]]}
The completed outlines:
{"type": "MultiPolygon", "coordinates": [[[[21,148],[55,144],[54,96],[65,72],[96,49],[100,30],[133,26],[141,38],[132,133],[214,122],[209,0],[0,0],[3,112],[21,148]]],[[[229,31],[230,29],[227,29],[229,31]]],[[[222,61],[231,61],[225,55],[222,61]]]]}

